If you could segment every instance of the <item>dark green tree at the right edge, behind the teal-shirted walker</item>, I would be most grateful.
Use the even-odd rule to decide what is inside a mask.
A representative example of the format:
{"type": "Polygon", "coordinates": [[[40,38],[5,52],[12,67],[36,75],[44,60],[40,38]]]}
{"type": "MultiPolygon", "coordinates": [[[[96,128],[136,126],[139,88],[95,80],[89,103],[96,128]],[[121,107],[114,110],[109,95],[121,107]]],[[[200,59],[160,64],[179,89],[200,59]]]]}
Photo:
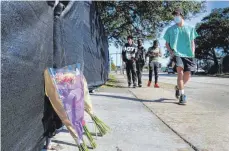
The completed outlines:
{"type": "Polygon", "coordinates": [[[229,54],[229,7],[214,9],[197,24],[197,32],[196,57],[214,61],[218,71],[218,58],[229,54]]]}

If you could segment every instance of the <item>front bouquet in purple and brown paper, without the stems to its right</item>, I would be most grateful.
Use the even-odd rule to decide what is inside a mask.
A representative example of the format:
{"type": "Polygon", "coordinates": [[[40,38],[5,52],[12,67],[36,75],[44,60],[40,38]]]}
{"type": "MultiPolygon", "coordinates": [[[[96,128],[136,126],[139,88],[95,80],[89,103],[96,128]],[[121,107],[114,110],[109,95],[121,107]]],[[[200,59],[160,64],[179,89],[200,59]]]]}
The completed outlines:
{"type": "Polygon", "coordinates": [[[87,151],[83,140],[84,83],[76,65],[45,71],[45,90],[50,102],[78,144],[87,151]]]}

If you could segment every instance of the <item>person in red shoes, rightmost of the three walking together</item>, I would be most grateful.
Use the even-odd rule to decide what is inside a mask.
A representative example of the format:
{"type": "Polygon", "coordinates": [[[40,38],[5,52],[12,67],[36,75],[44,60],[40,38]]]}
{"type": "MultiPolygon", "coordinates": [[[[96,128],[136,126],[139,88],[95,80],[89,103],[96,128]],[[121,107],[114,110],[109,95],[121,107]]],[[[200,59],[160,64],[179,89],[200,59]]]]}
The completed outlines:
{"type": "Polygon", "coordinates": [[[158,41],[155,40],[153,42],[153,46],[148,49],[148,52],[146,54],[146,57],[149,57],[149,81],[148,81],[148,87],[150,87],[152,82],[152,76],[154,71],[154,77],[155,77],[155,88],[159,88],[158,85],[158,68],[159,68],[159,57],[161,57],[161,49],[158,47],[158,41]]]}

